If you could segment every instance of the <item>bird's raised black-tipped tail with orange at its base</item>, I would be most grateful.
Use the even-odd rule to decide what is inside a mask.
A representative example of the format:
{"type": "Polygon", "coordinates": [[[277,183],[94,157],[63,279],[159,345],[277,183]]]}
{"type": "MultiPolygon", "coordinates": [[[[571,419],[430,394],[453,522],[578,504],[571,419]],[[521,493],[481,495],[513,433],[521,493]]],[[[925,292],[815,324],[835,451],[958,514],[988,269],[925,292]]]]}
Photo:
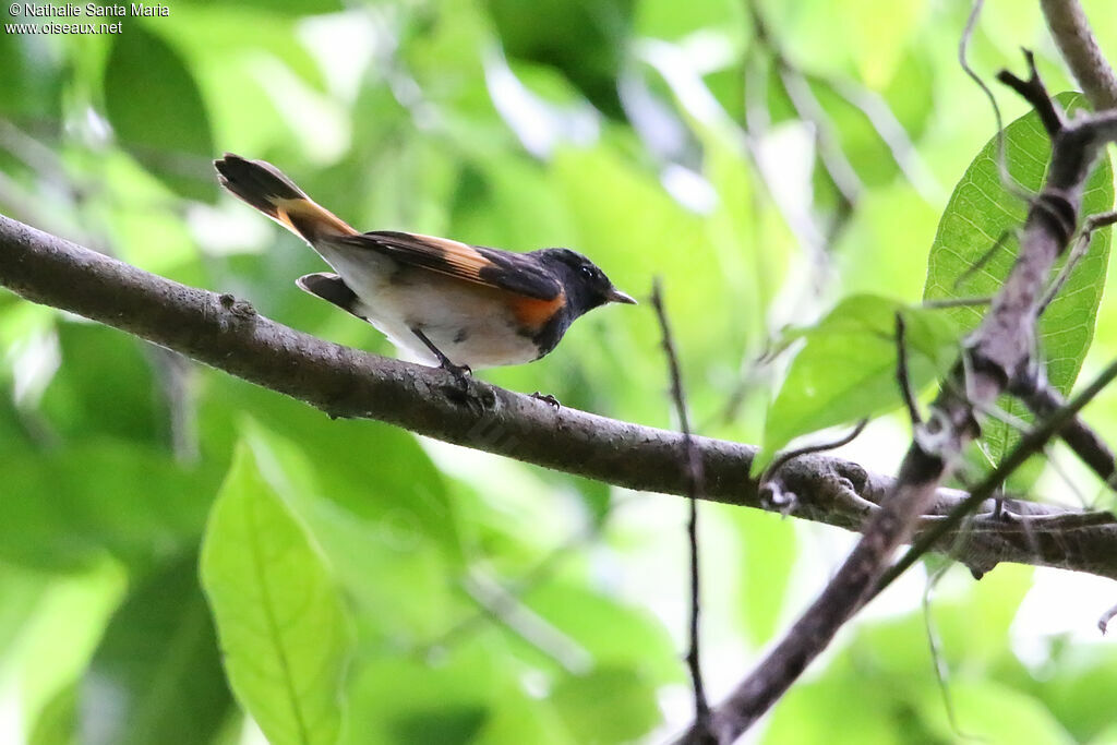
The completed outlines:
{"type": "Polygon", "coordinates": [[[356,230],[316,203],[267,161],[249,161],[226,153],[213,161],[218,181],[241,201],[309,243],[322,238],[355,236],[356,230]]]}

